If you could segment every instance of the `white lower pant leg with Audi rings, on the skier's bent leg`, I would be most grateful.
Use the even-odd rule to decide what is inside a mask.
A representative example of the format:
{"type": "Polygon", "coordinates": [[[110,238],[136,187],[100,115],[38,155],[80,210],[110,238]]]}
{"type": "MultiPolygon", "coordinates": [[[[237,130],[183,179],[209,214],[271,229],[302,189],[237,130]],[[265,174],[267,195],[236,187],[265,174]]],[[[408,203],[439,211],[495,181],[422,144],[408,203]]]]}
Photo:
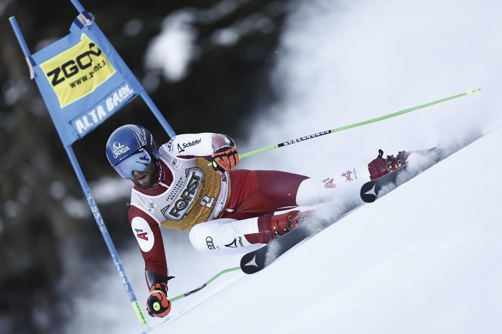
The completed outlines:
{"type": "Polygon", "coordinates": [[[258,218],[221,218],[194,225],[189,238],[196,250],[214,255],[231,255],[262,247],[263,243],[252,244],[244,237],[244,234],[258,232],[258,218]]]}

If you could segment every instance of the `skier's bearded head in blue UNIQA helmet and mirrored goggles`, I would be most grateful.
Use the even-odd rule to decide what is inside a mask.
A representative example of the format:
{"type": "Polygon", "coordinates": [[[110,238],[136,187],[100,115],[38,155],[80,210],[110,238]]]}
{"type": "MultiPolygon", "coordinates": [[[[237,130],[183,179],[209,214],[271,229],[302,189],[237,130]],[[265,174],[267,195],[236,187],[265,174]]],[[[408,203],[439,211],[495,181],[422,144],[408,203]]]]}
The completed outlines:
{"type": "Polygon", "coordinates": [[[159,151],[142,126],[128,124],[113,131],[106,142],[106,157],[120,176],[140,188],[151,188],[157,181],[159,151]]]}

